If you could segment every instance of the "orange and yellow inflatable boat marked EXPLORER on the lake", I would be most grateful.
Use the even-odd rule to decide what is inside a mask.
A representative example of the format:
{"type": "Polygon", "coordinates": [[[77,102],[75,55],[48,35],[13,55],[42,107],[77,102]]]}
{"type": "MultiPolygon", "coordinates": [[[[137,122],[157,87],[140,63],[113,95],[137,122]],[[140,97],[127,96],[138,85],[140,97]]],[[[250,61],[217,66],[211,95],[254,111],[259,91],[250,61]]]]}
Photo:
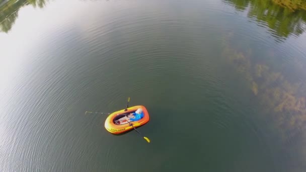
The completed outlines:
{"type": "Polygon", "coordinates": [[[110,133],[119,134],[119,133],[123,133],[123,132],[133,129],[133,126],[139,127],[141,125],[144,125],[148,121],[149,121],[149,113],[147,112],[144,106],[139,105],[139,106],[133,106],[127,109],[123,109],[120,111],[116,111],[110,114],[105,120],[104,127],[110,133]],[[115,121],[122,119],[123,117],[125,117],[126,115],[130,113],[134,113],[139,108],[142,109],[143,117],[138,121],[130,121],[129,123],[132,124],[132,126],[127,121],[121,124],[115,123],[115,121]]]}

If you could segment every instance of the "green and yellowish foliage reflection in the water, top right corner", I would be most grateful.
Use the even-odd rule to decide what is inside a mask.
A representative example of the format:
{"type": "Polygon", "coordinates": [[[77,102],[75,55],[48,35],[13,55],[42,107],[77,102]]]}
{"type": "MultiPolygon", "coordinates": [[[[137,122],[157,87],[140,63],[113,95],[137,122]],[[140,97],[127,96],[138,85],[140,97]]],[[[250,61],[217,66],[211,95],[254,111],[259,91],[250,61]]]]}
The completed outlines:
{"type": "Polygon", "coordinates": [[[299,36],[305,30],[306,1],[292,1],[296,6],[290,6],[286,3],[288,0],[225,0],[224,2],[233,5],[239,11],[247,10],[249,18],[256,20],[261,26],[269,27],[272,36],[277,39],[287,38],[291,34],[299,36]],[[302,5],[297,6],[298,2],[302,5]]]}

